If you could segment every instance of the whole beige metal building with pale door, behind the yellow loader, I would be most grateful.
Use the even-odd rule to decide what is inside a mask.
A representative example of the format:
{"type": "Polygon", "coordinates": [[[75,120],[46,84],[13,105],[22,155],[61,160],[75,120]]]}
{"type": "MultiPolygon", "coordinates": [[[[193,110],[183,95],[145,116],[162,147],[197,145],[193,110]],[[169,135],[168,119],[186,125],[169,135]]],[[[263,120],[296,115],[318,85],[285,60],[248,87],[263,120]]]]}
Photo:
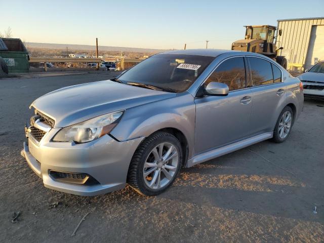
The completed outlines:
{"type": "Polygon", "coordinates": [[[303,19],[280,19],[277,48],[288,59],[288,69],[308,69],[319,60],[324,60],[324,17],[303,19]]]}

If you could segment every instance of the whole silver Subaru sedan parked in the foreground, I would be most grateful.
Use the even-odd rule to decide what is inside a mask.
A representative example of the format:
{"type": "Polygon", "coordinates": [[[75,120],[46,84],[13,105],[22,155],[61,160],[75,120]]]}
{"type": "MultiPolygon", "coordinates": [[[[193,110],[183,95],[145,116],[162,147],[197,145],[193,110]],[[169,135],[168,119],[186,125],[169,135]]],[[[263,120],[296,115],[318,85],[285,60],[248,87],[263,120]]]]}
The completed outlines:
{"type": "Polygon", "coordinates": [[[36,99],[21,154],[54,190],[96,195],[129,183],[156,195],[181,166],[285,141],[303,107],[301,88],[259,54],[160,53],[117,78],[36,99]]]}

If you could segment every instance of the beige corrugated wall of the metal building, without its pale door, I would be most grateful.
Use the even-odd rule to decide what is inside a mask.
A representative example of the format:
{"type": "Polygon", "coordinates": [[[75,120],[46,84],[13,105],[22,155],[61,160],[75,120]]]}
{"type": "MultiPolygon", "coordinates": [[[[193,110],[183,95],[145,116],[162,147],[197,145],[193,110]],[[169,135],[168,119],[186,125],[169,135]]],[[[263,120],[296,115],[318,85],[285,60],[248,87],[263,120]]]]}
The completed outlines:
{"type": "Polygon", "coordinates": [[[279,54],[286,56],[289,63],[305,64],[313,25],[324,25],[324,18],[278,20],[278,29],[282,30],[282,35],[278,35],[276,46],[284,48],[279,54]]]}

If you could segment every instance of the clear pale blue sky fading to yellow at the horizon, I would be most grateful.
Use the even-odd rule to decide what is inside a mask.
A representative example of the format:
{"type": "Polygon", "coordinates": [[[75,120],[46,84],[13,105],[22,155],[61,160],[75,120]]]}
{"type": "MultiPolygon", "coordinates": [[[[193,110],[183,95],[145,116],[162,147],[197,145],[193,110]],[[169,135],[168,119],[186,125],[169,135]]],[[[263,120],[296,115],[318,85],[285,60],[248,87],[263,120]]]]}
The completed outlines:
{"type": "Polygon", "coordinates": [[[324,0],[0,0],[0,32],[25,42],[151,49],[229,49],[244,25],[323,16],[324,0]]]}

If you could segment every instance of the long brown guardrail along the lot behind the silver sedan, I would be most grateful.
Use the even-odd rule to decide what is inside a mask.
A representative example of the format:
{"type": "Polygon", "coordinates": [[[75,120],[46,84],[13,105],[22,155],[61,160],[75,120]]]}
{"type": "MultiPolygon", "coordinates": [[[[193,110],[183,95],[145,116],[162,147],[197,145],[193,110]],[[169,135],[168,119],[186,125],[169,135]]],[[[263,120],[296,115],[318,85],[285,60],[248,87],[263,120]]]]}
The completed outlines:
{"type": "MultiPolygon", "coordinates": [[[[120,70],[125,67],[132,66],[133,63],[139,63],[144,59],[126,59],[125,57],[116,57],[120,59],[120,70]]],[[[100,63],[106,58],[75,58],[75,57],[30,57],[30,63],[44,62],[44,69],[47,72],[47,62],[97,62],[100,63]]],[[[111,58],[110,58],[111,59],[111,58]]]]}

